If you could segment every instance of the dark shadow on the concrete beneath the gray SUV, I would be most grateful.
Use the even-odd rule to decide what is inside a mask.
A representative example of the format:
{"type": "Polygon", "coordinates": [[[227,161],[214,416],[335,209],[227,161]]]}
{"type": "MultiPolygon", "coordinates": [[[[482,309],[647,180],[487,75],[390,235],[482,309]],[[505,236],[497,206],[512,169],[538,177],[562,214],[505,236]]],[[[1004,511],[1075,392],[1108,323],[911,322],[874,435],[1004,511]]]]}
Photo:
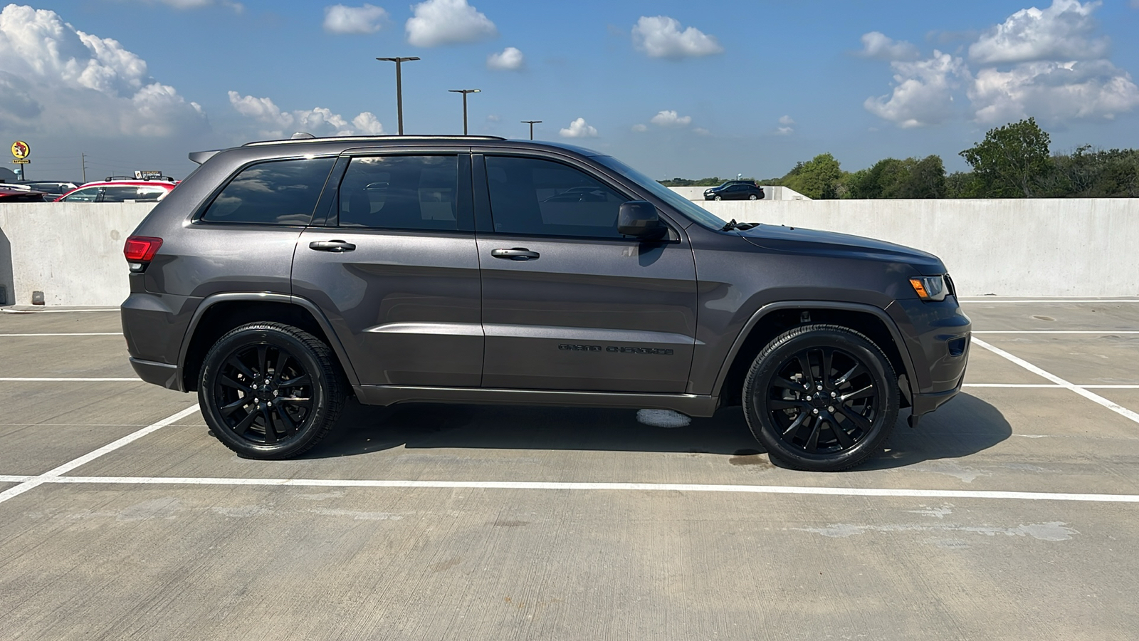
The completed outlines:
{"type": "MultiPolygon", "coordinates": [[[[906,424],[907,414],[902,412],[884,452],[855,470],[967,456],[1013,433],[995,407],[967,393],[924,417],[916,430],[906,424]]],[[[707,419],[694,417],[687,427],[659,428],[638,422],[636,409],[444,404],[367,407],[351,400],[337,430],[301,457],[352,456],[400,446],[677,452],[734,457],[763,453],[739,407],[721,408],[707,419]]]]}

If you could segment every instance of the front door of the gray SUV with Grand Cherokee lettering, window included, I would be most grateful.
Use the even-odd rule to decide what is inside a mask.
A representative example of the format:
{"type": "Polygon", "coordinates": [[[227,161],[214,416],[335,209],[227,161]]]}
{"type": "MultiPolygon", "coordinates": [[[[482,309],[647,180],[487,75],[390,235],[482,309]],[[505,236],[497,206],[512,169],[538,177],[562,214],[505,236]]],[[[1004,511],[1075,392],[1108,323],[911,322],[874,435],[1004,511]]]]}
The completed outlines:
{"type": "Polygon", "coordinates": [[[623,237],[617,210],[636,198],[585,168],[476,159],[476,206],[491,219],[477,240],[483,387],[683,392],[697,300],[683,234],[623,237]]]}

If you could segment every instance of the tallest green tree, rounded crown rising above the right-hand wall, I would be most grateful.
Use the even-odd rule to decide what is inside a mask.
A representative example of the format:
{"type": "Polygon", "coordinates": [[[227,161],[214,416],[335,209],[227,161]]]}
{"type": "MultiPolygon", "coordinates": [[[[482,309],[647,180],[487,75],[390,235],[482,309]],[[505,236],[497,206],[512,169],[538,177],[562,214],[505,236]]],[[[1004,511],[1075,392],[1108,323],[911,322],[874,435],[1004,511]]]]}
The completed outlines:
{"type": "Polygon", "coordinates": [[[965,162],[981,184],[982,194],[992,198],[1033,197],[1049,179],[1051,156],[1048,132],[1030,117],[990,129],[985,139],[961,152],[965,162]]]}

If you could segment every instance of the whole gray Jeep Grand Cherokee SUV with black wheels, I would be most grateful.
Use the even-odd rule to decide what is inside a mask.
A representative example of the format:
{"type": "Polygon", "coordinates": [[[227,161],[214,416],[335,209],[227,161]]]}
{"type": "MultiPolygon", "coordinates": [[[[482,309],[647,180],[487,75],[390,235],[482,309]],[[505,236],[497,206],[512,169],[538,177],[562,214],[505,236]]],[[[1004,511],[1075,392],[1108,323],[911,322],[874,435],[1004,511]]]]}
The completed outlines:
{"type": "Polygon", "coordinates": [[[936,257],[713,216],[607,155],[489,137],[199,152],[126,241],[131,364],[241,456],[362,404],[743,405],[841,470],[956,395],[970,323],[936,257]]]}

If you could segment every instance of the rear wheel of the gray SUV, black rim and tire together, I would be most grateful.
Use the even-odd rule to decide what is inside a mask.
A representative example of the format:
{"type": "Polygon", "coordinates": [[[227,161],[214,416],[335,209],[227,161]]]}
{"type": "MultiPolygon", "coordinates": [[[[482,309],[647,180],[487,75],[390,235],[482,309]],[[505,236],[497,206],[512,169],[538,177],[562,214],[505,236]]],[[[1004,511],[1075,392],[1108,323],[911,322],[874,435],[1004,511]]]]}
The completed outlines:
{"type": "Polygon", "coordinates": [[[206,352],[202,415],[218,440],[246,459],[308,452],[333,429],[347,384],[331,350],[282,323],[237,327],[206,352]]]}

